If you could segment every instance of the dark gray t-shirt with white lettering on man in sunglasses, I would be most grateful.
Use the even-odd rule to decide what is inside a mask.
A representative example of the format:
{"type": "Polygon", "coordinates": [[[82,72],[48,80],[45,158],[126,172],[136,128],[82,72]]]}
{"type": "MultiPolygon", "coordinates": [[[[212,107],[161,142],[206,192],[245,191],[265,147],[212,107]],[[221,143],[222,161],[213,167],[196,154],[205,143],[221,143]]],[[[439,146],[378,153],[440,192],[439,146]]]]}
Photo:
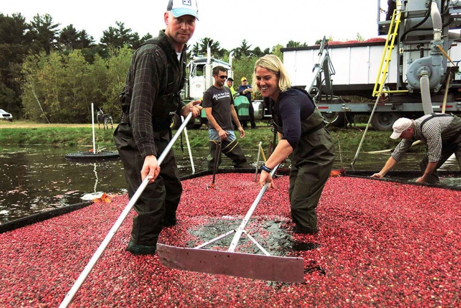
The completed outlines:
{"type": "MultiPolygon", "coordinates": [[[[234,129],[231,117],[231,106],[233,104],[234,99],[232,98],[231,90],[227,87],[218,89],[212,85],[203,93],[203,108],[212,108],[211,115],[224,130],[234,129]]],[[[214,128],[209,121],[208,128],[214,128]]]]}

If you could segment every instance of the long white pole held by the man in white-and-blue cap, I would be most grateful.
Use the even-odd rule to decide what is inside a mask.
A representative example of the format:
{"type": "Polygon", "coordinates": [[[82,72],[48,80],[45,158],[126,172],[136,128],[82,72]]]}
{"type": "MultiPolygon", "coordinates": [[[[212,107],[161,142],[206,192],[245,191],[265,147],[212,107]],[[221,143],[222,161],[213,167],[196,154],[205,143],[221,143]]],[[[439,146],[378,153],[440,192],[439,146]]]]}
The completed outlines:
{"type": "MultiPolygon", "coordinates": [[[[179,137],[179,135],[183,131],[184,127],[186,127],[187,122],[189,122],[189,120],[191,118],[192,118],[192,113],[190,112],[189,115],[186,117],[186,119],[183,121],[183,124],[181,124],[181,126],[178,128],[178,130],[175,133],[175,135],[173,136],[173,138],[170,140],[170,142],[166,146],[165,150],[163,150],[162,154],[160,155],[160,157],[159,157],[159,159],[157,161],[159,166],[163,162],[163,160],[165,159],[168,152],[170,152],[171,147],[173,146],[174,142],[179,137]]],[[[83,272],[80,273],[80,276],[78,276],[77,280],[72,285],[71,290],[69,290],[69,292],[67,292],[67,294],[64,297],[63,301],[59,305],[59,308],[65,308],[71,303],[72,298],[75,296],[78,289],[80,289],[80,286],[83,284],[83,281],[85,281],[88,274],[91,272],[91,270],[95,266],[96,262],[100,258],[101,254],[104,252],[104,249],[106,249],[107,245],[112,240],[112,237],[115,235],[115,232],[117,232],[118,228],[120,228],[120,226],[122,225],[124,219],[128,216],[128,213],[130,212],[131,208],[133,207],[133,205],[135,205],[136,201],[139,199],[139,196],[141,196],[142,192],[147,187],[148,182],[149,182],[149,178],[146,176],[144,181],[142,181],[141,185],[136,190],[133,197],[130,199],[130,202],[128,202],[128,205],[125,206],[124,210],[122,211],[122,213],[118,217],[117,221],[114,223],[112,228],[109,230],[109,233],[107,233],[106,237],[104,238],[102,243],[99,245],[98,249],[96,249],[95,254],[93,254],[93,257],[91,257],[88,264],[83,269],[83,272]]]]}

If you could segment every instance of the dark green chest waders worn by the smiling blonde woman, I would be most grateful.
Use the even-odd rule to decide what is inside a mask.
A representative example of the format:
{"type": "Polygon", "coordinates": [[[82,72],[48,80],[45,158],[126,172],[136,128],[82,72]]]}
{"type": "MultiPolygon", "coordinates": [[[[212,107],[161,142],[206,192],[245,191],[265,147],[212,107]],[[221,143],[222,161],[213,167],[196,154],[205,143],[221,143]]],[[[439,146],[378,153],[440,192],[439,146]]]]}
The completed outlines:
{"type": "MultiPolygon", "coordinates": [[[[308,95],[304,89],[296,89],[308,95]]],[[[282,120],[274,112],[274,107],[274,127],[278,133],[283,133],[282,120]]],[[[315,208],[335,160],[335,147],[330,133],[324,128],[323,120],[319,109],[315,107],[313,113],[301,121],[301,139],[293,149],[289,197],[291,217],[296,223],[297,233],[318,231],[315,208]]]]}

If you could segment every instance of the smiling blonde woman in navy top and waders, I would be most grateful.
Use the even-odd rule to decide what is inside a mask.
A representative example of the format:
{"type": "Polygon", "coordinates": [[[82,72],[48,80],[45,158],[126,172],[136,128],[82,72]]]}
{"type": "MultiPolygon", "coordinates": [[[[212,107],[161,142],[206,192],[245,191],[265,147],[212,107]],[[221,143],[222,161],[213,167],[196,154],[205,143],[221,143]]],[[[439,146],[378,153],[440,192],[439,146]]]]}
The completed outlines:
{"type": "Polygon", "coordinates": [[[278,132],[278,145],[261,166],[261,187],[269,182],[270,172],[291,153],[289,197],[295,233],[318,232],[315,208],[330,176],[335,147],[324,119],[304,89],[291,87],[282,61],[266,54],[254,64],[253,85],[272,108],[272,121],[278,132]]]}

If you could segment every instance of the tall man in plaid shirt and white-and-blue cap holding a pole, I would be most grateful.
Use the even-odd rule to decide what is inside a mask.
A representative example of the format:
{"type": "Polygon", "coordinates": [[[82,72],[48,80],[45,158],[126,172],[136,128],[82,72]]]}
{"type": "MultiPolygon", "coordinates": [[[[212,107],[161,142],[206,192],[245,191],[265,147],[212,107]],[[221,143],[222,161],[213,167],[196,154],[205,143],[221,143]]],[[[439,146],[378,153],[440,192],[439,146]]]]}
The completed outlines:
{"type": "Polygon", "coordinates": [[[186,79],[186,42],[197,19],[196,0],[170,0],[166,29],[136,49],[120,95],[122,121],[114,139],[130,199],[144,178],[150,179],[134,205],[138,215],[126,248],[132,254],[154,254],[162,228],[176,224],[183,191],[176,160],[171,150],[160,169],[157,158],[171,139],[171,118],[189,112],[200,115],[200,101],[185,104],[180,96],[186,79]]]}

